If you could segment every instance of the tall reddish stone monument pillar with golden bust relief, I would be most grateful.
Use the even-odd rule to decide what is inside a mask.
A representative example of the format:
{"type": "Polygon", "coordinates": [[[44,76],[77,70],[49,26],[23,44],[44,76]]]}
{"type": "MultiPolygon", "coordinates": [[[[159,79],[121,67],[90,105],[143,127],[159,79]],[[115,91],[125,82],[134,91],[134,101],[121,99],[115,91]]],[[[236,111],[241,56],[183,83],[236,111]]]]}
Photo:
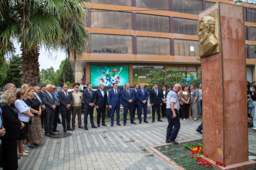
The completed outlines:
{"type": "MultiPolygon", "coordinates": [[[[216,3],[199,14],[203,154],[233,165],[248,160],[243,7],[216,3]]],[[[253,165],[255,166],[255,165],[253,165]]]]}

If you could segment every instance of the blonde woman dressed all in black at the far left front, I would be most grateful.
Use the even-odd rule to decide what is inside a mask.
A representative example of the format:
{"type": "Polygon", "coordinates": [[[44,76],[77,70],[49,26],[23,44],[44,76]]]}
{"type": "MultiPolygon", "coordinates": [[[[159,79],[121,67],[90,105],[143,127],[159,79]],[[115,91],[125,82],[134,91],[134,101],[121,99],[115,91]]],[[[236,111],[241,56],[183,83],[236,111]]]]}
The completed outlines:
{"type": "Polygon", "coordinates": [[[17,139],[20,129],[24,128],[23,122],[18,120],[18,111],[11,105],[15,101],[14,92],[6,90],[1,95],[1,109],[3,114],[3,126],[5,135],[3,135],[3,169],[18,169],[17,158],[17,139]]]}

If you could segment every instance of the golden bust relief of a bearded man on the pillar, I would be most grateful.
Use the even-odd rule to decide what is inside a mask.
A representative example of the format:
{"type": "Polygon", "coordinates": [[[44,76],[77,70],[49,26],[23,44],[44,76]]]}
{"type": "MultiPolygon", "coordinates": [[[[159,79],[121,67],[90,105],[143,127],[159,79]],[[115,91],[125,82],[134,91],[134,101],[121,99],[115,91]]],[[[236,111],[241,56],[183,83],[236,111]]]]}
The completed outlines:
{"type": "Polygon", "coordinates": [[[214,11],[197,21],[197,33],[200,42],[199,56],[209,56],[219,52],[218,12],[214,11]]]}

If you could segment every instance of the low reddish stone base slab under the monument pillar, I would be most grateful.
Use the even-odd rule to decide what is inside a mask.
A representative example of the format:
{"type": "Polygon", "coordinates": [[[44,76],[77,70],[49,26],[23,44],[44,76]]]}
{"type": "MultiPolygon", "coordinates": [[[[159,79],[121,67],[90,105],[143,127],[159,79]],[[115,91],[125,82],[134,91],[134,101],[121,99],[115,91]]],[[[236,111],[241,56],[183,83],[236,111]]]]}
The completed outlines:
{"type": "Polygon", "coordinates": [[[254,160],[249,159],[246,162],[242,162],[242,163],[235,163],[235,164],[231,164],[231,165],[226,165],[226,167],[221,167],[219,165],[216,165],[216,161],[210,159],[210,158],[206,158],[205,156],[201,155],[201,160],[206,161],[210,164],[212,164],[212,167],[214,169],[236,169],[236,170],[242,170],[242,169],[251,169],[251,168],[255,168],[256,167],[256,162],[254,160]]]}

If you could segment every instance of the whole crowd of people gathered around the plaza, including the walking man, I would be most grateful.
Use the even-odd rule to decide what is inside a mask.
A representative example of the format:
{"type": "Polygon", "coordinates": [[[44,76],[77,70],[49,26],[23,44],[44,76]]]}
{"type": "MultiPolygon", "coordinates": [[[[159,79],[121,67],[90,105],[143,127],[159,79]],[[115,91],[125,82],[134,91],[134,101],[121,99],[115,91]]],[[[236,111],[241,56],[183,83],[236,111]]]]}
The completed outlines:
{"type": "Polygon", "coordinates": [[[117,126],[121,126],[119,116],[121,107],[124,108],[124,126],[127,123],[128,113],[131,124],[137,124],[135,114],[139,124],[149,123],[147,101],[150,99],[152,122],[155,122],[156,118],[159,122],[162,122],[161,118],[167,118],[169,126],[166,142],[177,143],[175,138],[180,129],[180,117],[183,120],[192,117],[193,120],[197,120],[198,114],[201,113],[201,84],[199,89],[195,84],[191,86],[175,84],[170,91],[165,85],[160,90],[158,84],[154,84],[148,91],[143,83],[135,84],[134,89],[130,89],[130,84],[126,83],[122,91],[117,88],[116,83],[113,84],[113,89],[109,90],[104,89],[103,83],[99,84],[98,90],[93,90],[91,83],[88,83],[87,89],[83,92],[79,91],[79,86],[78,83],[74,84],[74,91],[68,92],[68,86],[63,85],[63,91],[57,92],[57,87],[51,84],[41,87],[23,84],[18,91],[13,83],[5,85],[0,102],[2,142],[0,163],[3,164],[3,169],[17,169],[18,157],[29,154],[29,150],[25,150],[23,145],[27,143],[28,148],[39,146],[45,136],[51,137],[59,132],[58,123],[62,124],[64,133],[74,131],[76,114],[78,127],[86,131],[89,130],[88,116],[91,128],[107,126],[106,113],[111,120],[111,126],[114,126],[114,114],[116,114],[117,126]],[[97,124],[94,124],[94,107],[97,112],[97,124]],[[83,109],[84,126],[81,119],[83,109]],[[59,120],[59,112],[61,120],[59,120]]]}

